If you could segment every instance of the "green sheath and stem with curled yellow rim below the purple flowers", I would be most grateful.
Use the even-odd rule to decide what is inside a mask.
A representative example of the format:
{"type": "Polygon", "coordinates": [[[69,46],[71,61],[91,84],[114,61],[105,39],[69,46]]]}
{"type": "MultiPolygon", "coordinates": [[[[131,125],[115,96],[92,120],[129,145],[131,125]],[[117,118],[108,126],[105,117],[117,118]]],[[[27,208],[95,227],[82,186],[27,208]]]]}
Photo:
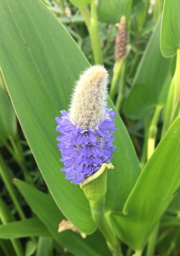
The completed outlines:
{"type": "Polygon", "coordinates": [[[104,235],[108,247],[114,256],[121,255],[121,249],[116,235],[113,233],[104,215],[105,194],[107,191],[107,169],[114,169],[111,163],[103,163],[102,167],[87,180],[80,183],[87,197],[91,215],[99,230],[104,235]]]}

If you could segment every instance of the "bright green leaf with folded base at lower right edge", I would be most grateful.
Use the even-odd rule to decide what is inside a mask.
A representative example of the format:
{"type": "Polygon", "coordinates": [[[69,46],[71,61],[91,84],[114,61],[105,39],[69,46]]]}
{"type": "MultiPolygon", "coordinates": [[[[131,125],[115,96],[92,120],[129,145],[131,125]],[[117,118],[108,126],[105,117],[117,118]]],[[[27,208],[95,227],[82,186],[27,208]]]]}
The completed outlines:
{"type": "Polygon", "coordinates": [[[180,183],[180,116],[172,123],[141,172],[123,212],[112,214],[117,235],[142,250],[180,183]]]}

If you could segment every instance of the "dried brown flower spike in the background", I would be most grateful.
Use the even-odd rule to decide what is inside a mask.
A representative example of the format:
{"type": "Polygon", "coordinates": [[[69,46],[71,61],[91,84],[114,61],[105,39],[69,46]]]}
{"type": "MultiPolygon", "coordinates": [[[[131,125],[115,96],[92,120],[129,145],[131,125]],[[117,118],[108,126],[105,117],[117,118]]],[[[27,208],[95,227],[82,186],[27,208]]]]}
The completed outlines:
{"type": "Polygon", "coordinates": [[[115,62],[117,60],[123,60],[126,56],[126,52],[127,52],[126,17],[122,16],[118,26],[118,31],[117,31],[116,41],[115,41],[115,49],[114,49],[115,62]]]}

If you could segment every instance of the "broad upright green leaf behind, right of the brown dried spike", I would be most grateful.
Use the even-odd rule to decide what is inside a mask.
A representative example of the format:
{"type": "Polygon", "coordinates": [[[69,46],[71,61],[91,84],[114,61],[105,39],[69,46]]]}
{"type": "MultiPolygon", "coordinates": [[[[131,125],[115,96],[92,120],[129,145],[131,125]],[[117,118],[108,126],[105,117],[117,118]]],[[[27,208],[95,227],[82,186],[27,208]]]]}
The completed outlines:
{"type": "Polygon", "coordinates": [[[159,19],[139,63],[124,112],[132,118],[144,118],[156,105],[165,105],[171,82],[170,59],[162,57],[159,48],[161,19],[159,19]]]}

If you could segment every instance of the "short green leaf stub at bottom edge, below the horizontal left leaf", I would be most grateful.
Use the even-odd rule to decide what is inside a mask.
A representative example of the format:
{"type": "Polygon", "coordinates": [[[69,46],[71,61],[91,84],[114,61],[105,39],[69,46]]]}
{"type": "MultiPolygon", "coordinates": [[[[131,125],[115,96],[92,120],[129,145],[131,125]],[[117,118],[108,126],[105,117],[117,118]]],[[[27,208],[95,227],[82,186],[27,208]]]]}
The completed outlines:
{"type": "Polygon", "coordinates": [[[50,256],[52,252],[53,238],[40,237],[37,243],[36,256],[50,256]]]}

